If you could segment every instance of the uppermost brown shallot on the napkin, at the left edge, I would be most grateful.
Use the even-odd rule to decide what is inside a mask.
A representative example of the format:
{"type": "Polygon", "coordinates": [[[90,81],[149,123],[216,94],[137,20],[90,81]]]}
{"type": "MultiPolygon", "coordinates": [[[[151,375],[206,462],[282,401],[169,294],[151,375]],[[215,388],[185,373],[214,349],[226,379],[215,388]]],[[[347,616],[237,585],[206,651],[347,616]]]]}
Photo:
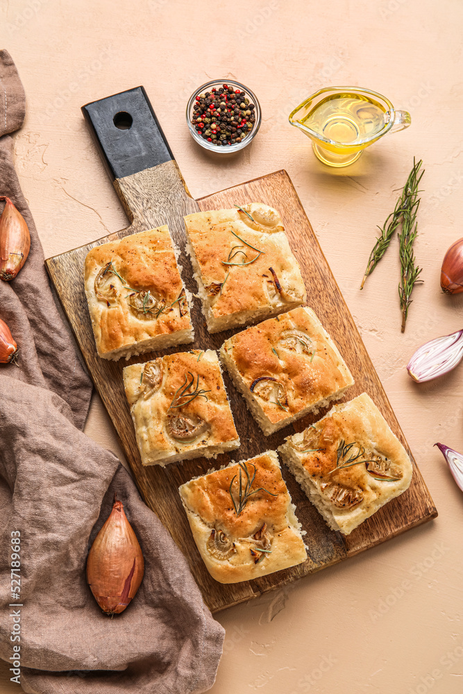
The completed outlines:
{"type": "Polygon", "coordinates": [[[6,201],[0,217],[0,279],[9,282],[26,262],[31,248],[31,235],[21,212],[5,195],[6,201]]]}

